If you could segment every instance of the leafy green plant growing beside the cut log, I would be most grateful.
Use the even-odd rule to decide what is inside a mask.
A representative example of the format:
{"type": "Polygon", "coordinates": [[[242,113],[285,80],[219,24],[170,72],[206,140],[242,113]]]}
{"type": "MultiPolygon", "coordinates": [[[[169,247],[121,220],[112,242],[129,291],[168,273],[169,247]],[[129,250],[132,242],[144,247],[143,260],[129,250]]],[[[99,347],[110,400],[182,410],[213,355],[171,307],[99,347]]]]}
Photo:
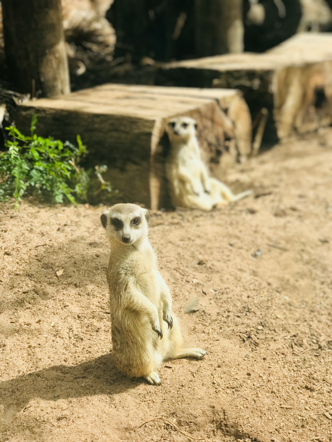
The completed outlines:
{"type": "MultiPolygon", "coordinates": [[[[87,201],[92,183],[90,174],[79,165],[87,154],[81,137],[77,135],[77,146],[52,137],[38,137],[36,124],[37,115],[34,115],[30,136],[23,135],[14,126],[6,128],[12,139],[5,143],[7,150],[0,152],[0,201],[15,198],[17,206],[23,195],[56,203],[64,202],[64,198],[73,204],[77,204],[77,200],[87,201]]],[[[105,171],[104,166],[100,169],[105,171]]],[[[99,181],[100,169],[96,168],[99,181]]],[[[104,180],[100,186],[100,190],[103,189],[111,190],[104,180]]]]}

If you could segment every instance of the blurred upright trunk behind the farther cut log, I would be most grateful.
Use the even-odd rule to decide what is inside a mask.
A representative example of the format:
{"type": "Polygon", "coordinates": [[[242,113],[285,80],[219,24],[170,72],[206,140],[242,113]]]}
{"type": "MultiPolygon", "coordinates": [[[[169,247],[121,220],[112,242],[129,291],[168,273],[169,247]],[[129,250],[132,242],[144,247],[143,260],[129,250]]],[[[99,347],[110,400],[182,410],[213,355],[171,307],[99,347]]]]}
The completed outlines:
{"type": "Polygon", "coordinates": [[[195,7],[199,56],[243,52],[243,0],[196,0],[195,7]]]}

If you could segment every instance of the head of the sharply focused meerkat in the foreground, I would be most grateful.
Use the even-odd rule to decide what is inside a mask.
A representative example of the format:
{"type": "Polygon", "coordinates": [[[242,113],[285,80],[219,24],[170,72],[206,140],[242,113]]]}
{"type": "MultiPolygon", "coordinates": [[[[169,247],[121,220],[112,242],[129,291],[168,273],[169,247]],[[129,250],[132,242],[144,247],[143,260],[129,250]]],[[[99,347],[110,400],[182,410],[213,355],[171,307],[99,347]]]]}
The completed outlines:
{"type": "Polygon", "coordinates": [[[100,217],[109,240],[116,239],[121,244],[134,244],[146,238],[150,213],[136,204],[115,204],[100,217]]]}

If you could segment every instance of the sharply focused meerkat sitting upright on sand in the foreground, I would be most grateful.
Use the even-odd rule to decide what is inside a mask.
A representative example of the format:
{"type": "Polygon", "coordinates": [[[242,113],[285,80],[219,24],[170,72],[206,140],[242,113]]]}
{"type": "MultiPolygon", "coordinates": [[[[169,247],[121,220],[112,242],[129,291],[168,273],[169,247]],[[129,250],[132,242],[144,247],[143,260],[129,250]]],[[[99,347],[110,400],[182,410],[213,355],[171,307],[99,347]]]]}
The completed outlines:
{"type": "Polygon", "coordinates": [[[119,371],[160,385],[167,358],[202,358],[201,348],[183,348],[170,290],[148,239],[150,213],[135,204],[115,204],[100,217],[111,245],[107,269],[112,319],[112,355],[119,371]]]}

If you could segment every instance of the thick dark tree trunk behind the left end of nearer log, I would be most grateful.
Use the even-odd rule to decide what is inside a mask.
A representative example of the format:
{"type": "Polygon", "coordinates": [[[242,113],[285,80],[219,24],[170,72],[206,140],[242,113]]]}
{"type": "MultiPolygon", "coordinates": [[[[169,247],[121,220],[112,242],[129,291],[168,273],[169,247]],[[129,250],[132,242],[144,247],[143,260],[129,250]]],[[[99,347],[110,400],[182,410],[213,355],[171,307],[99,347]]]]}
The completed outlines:
{"type": "Polygon", "coordinates": [[[70,92],[60,0],[2,0],[11,75],[32,96],[70,92]]]}

